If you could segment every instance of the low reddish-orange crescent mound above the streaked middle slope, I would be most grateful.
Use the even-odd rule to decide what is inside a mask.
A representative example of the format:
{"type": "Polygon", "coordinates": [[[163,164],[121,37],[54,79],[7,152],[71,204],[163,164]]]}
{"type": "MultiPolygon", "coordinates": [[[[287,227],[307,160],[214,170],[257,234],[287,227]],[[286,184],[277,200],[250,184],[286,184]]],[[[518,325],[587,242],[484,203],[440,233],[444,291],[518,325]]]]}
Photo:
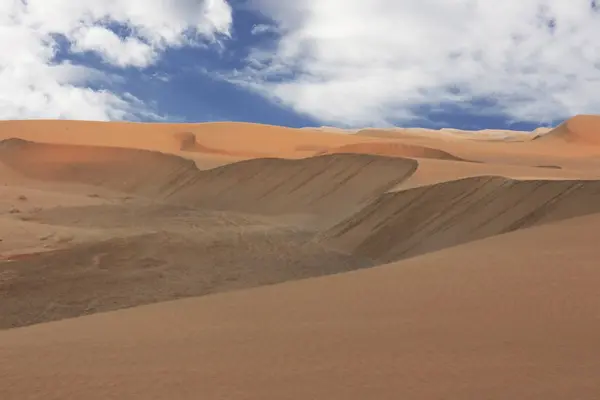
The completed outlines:
{"type": "Polygon", "coordinates": [[[328,150],[325,153],[376,154],[388,157],[432,158],[437,160],[467,161],[442,150],[400,142],[347,144],[345,146],[328,150]]]}

